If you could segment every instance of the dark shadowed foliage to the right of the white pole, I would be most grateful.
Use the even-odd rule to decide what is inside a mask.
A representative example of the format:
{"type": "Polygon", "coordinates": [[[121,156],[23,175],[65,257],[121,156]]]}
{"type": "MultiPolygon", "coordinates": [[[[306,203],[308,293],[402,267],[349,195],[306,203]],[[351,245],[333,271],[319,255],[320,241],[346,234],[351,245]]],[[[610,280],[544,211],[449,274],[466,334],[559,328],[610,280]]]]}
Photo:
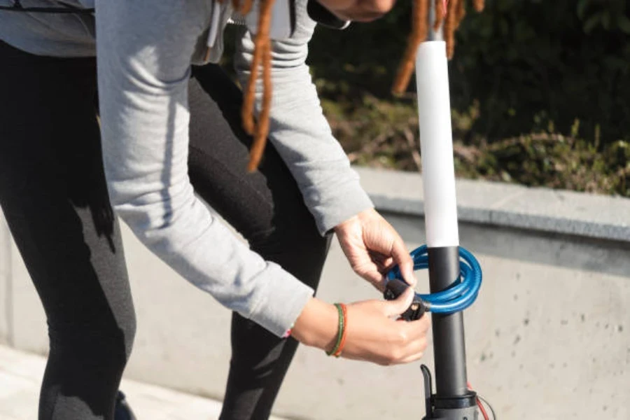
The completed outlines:
{"type": "Polygon", "coordinates": [[[630,20],[625,2],[488,1],[458,33],[451,63],[456,109],[480,104],[474,130],[489,139],[531,130],[601,144],[630,140],[630,20]]]}

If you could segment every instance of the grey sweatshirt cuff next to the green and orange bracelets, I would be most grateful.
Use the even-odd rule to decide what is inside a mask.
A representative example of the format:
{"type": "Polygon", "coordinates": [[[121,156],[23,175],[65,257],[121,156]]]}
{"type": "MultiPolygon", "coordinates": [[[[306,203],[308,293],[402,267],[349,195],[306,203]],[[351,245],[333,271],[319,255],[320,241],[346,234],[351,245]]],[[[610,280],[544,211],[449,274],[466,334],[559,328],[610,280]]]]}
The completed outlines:
{"type": "Polygon", "coordinates": [[[278,337],[293,327],[304,306],[313,297],[313,288],[286,272],[274,262],[267,262],[265,288],[258,293],[248,318],[278,337]]]}

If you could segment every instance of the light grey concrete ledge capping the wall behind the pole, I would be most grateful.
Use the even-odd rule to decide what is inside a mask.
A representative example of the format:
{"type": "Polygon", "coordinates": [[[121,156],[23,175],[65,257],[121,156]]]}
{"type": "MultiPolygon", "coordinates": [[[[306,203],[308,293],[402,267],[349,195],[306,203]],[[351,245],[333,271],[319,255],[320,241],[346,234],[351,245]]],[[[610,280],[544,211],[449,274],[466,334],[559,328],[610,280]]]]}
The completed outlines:
{"type": "MultiPolygon", "coordinates": [[[[355,168],[380,211],[423,216],[422,176],[355,168]]],[[[458,220],[630,242],[630,200],[458,179],[458,220]]]]}

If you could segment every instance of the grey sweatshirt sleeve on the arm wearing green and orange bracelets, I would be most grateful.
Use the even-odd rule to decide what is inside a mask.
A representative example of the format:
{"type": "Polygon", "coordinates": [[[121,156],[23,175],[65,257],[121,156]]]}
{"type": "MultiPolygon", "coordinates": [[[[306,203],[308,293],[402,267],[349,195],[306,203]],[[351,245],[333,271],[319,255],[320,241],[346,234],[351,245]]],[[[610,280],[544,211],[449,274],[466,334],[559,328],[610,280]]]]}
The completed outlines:
{"type": "Polygon", "coordinates": [[[209,5],[97,1],[106,179],[116,213],[155,255],[225,307],[281,336],[313,290],[232,235],[188,179],[190,57],[209,5]]]}

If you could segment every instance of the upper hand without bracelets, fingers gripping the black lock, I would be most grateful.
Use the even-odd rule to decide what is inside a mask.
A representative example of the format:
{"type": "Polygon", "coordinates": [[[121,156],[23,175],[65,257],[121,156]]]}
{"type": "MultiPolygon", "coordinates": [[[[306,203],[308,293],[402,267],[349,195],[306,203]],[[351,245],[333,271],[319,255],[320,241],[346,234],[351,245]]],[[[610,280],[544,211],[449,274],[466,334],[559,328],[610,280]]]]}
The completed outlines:
{"type": "Polygon", "coordinates": [[[385,274],[395,264],[405,281],[416,286],[414,261],[405,243],[376,210],[362,211],[337,225],[335,234],[354,272],[377,289],[384,289],[385,274]]]}

